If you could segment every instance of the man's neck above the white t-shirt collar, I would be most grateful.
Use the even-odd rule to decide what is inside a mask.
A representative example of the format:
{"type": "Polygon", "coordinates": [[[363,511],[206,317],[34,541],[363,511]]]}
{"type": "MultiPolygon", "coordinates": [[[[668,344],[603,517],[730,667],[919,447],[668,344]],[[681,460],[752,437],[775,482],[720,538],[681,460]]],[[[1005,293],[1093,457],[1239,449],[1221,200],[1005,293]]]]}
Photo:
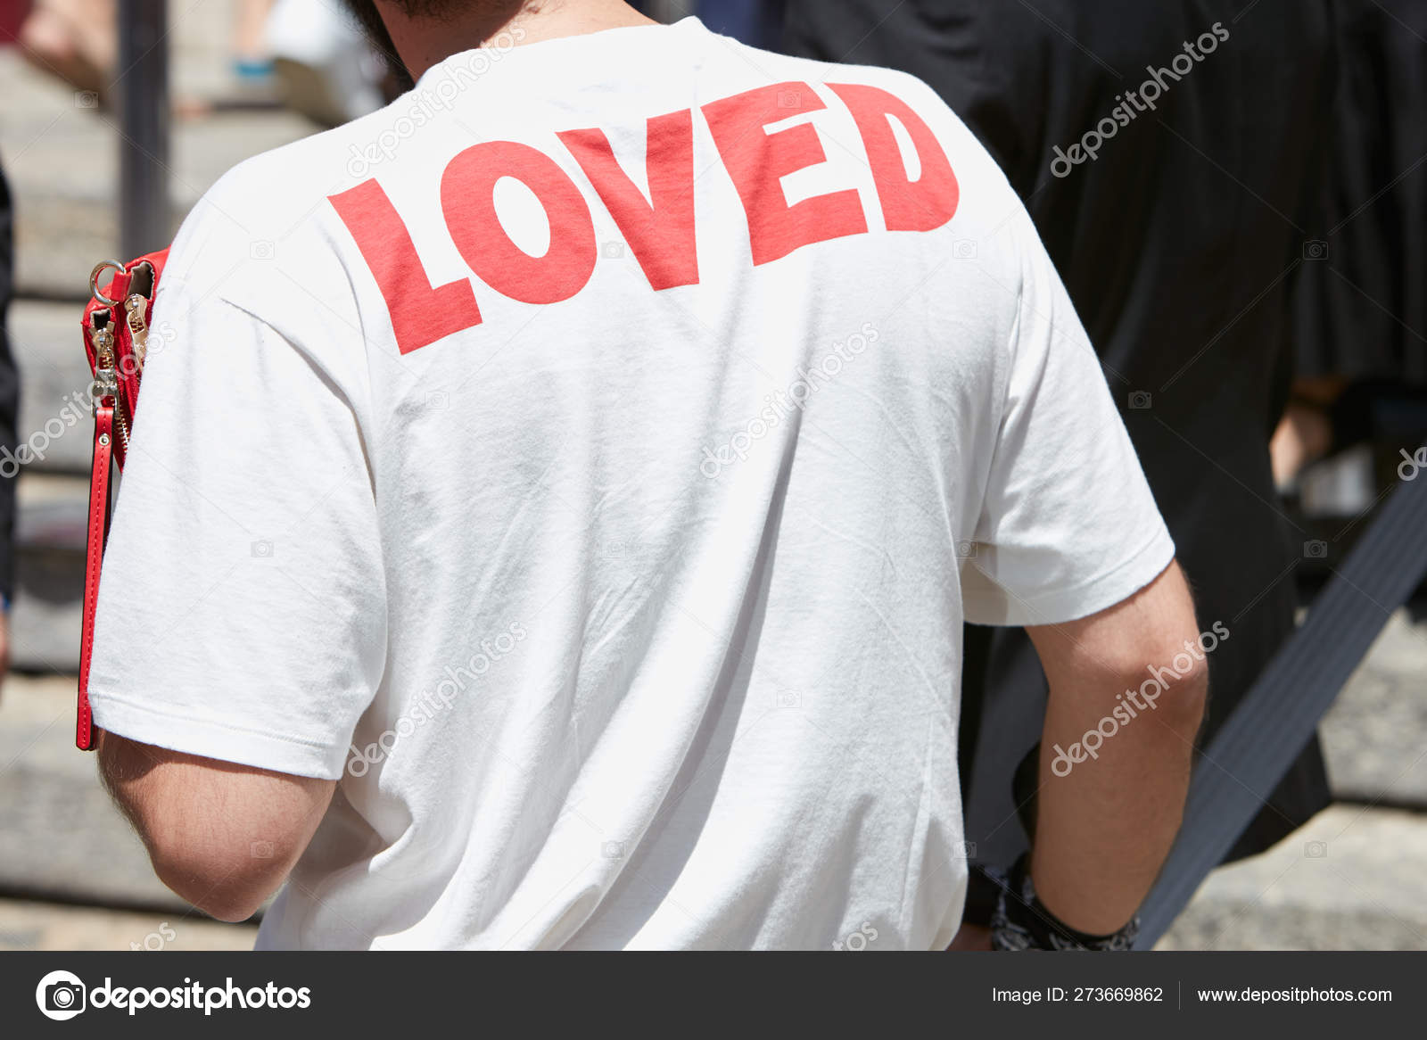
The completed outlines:
{"type": "Polygon", "coordinates": [[[624,0],[485,0],[459,7],[450,19],[407,17],[400,7],[382,0],[377,0],[377,6],[412,80],[420,80],[438,61],[475,47],[522,46],[605,29],[658,24],[624,0]]]}

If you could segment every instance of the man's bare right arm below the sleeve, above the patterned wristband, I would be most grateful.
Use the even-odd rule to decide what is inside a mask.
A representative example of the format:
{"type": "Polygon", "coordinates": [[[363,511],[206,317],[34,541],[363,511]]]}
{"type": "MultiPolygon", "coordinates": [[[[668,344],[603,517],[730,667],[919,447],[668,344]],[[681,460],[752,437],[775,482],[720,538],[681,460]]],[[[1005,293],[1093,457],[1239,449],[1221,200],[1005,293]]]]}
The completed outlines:
{"type": "Polygon", "coordinates": [[[1179,833],[1209,685],[1200,628],[1172,564],[1107,611],[1027,632],[1050,682],[1032,880],[1066,924],[1107,934],[1134,916],[1179,833]],[[1186,659],[1193,665],[1183,669],[1186,659]],[[1169,682],[1142,695],[1150,668],[1169,682]],[[1057,745],[1073,759],[1096,743],[1086,733],[1104,719],[1116,725],[1103,730],[1116,732],[1099,740],[1096,758],[1056,762],[1057,745]]]}

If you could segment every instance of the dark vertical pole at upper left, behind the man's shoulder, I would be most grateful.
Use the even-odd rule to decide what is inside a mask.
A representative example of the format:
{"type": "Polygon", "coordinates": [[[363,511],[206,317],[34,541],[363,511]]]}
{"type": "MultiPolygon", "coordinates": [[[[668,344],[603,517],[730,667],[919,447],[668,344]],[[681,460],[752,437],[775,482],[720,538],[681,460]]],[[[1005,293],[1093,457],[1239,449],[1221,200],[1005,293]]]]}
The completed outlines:
{"type": "Polygon", "coordinates": [[[163,248],[168,210],[167,0],[118,0],[118,251],[133,260],[163,248]]]}

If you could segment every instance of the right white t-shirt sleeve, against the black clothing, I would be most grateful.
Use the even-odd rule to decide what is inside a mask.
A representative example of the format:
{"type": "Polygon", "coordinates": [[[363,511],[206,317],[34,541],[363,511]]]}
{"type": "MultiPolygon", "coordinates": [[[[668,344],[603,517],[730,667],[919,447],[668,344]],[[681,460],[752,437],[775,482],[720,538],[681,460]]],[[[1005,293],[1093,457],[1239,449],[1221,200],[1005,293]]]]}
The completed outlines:
{"type": "Polygon", "coordinates": [[[1015,225],[1020,300],[972,549],[966,621],[1085,618],[1149,585],[1174,544],[1090,341],[1030,218],[1015,225]]]}

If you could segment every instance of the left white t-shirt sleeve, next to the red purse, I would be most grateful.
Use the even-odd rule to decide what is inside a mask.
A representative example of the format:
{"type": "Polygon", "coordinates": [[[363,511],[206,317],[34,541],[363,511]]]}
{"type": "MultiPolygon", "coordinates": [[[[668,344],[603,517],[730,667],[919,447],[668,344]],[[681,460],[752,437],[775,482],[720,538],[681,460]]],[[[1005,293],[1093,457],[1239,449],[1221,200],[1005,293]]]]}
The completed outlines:
{"type": "Polygon", "coordinates": [[[267,322],[195,295],[166,282],[154,305],[100,582],[94,719],[338,779],[387,641],[354,394],[267,322]]]}

